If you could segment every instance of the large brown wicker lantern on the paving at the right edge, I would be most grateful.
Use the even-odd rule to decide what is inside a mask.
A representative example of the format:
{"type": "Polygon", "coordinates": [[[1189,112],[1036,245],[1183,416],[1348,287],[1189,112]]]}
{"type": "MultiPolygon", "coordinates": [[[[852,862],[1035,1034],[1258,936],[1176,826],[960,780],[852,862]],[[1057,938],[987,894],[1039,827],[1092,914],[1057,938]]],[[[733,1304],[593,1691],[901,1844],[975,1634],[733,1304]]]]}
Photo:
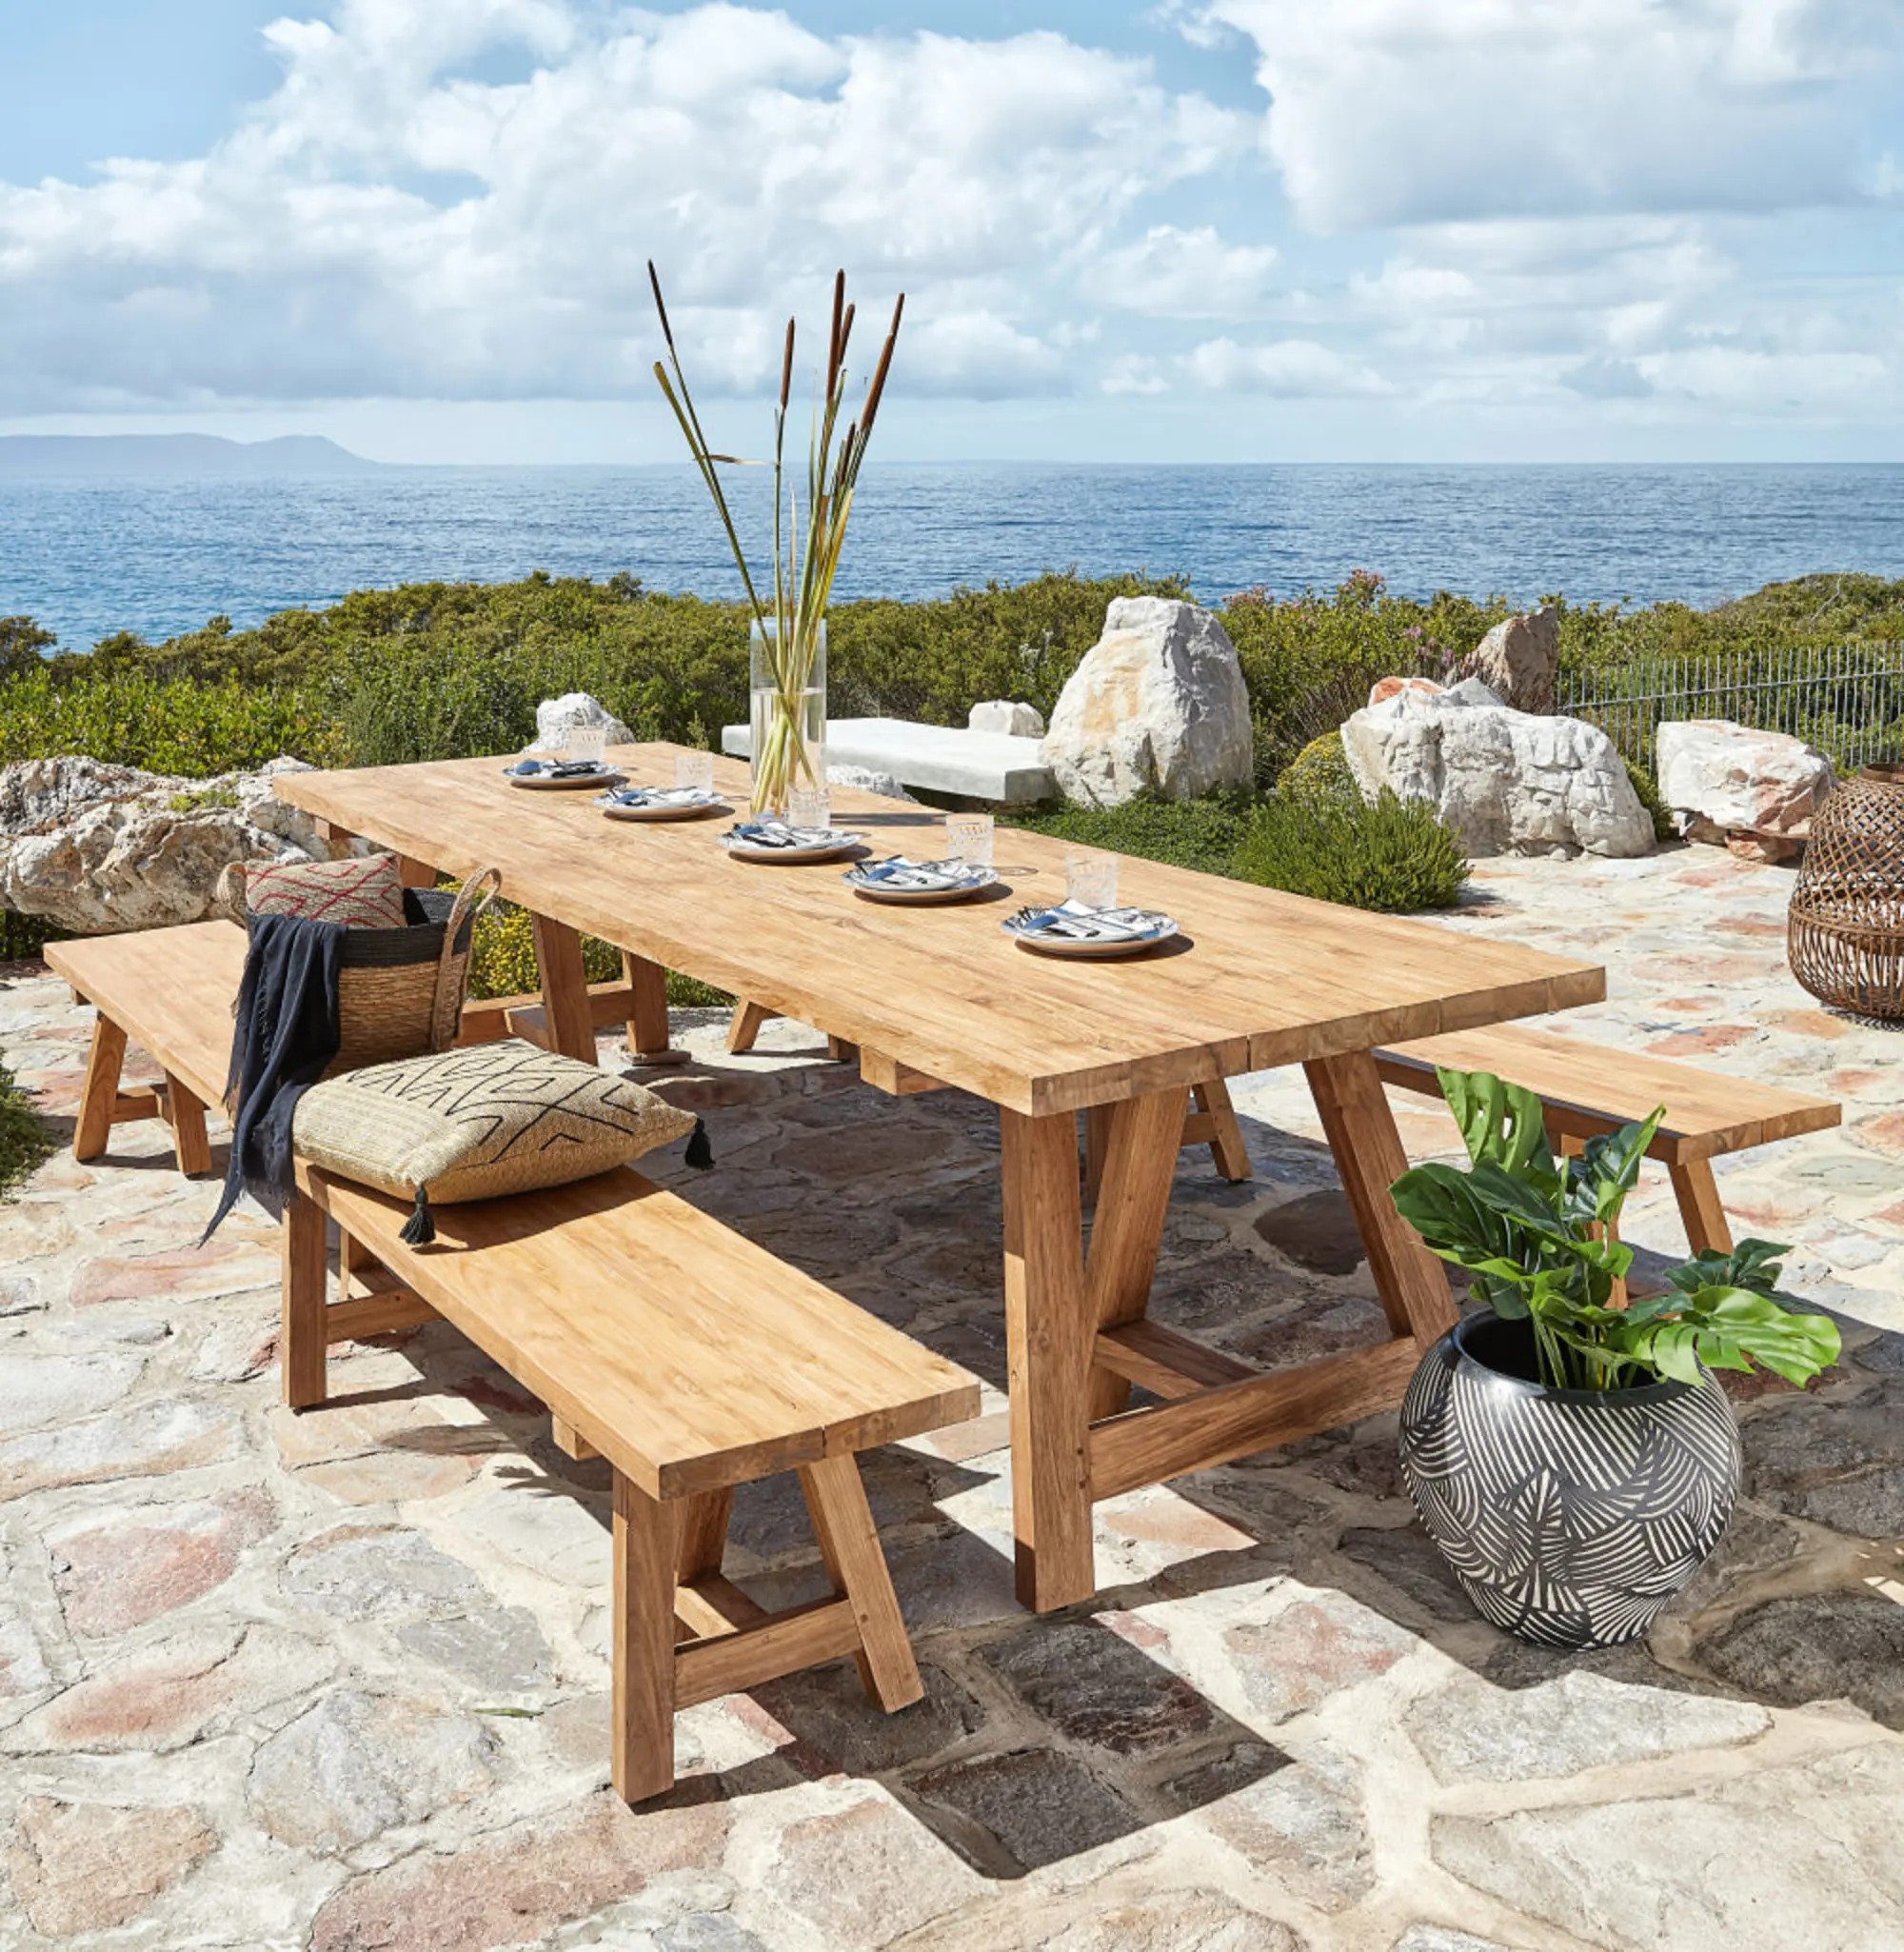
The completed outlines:
{"type": "Polygon", "coordinates": [[[1904,1019],[1904,765],[1867,765],[1818,810],[1787,947],[1822,1003],[1904,1019]]]}

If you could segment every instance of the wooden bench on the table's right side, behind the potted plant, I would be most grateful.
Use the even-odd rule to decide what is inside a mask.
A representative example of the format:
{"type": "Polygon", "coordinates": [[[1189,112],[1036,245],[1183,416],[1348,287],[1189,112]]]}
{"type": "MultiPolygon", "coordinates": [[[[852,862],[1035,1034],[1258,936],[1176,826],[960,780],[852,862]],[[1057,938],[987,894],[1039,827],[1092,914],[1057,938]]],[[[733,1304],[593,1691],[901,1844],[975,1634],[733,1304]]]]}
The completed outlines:
{"type": "Polygon", "coordinates": [[[1547,1109],[1547,1130],[1567,1150],[1664,1105],[1648,1158],[1660,1159],[1672,1175],[1693,1253],[1705,1247],[1732,1251],[1732,1230],[1713,1183],[1715,1158],[1818,1132],[1842,1118],[1830,1099],[1518,1023],[1424,1037],[1375,1052],[1383,1083],[1432,1099],[1442,1097],[1436,1066],[1494,1072],[1535,1091],[1547,1109]]]}

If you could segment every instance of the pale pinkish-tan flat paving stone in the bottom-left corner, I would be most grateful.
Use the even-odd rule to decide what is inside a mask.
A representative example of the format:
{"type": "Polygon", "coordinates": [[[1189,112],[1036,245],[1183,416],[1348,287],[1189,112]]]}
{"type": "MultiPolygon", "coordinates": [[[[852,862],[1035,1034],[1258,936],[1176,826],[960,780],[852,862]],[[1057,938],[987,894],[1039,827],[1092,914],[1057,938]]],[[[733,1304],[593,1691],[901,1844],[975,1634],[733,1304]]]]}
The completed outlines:
{"type": "Polygon", "coordinates": [[[127,1810],[25,1796],[14,1823],[14,1897],[47,1938],[125,1925],[218,1843],[189,1804],[127,1810]]]}

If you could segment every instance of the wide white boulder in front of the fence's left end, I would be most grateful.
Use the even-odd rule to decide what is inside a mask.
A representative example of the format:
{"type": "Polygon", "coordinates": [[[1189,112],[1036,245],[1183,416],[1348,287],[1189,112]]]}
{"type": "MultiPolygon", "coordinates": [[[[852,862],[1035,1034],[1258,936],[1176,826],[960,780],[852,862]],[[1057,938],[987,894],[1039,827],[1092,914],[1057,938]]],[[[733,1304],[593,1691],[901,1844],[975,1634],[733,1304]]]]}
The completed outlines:
{"type": "Polygon", "coordinates": [[[1471,855],[1652,851],[1652,818],[1606,732],[1518,712],[1475,679],[1356,712],[1342,752],[1364,794],[1428,800],[1471,855]]]}

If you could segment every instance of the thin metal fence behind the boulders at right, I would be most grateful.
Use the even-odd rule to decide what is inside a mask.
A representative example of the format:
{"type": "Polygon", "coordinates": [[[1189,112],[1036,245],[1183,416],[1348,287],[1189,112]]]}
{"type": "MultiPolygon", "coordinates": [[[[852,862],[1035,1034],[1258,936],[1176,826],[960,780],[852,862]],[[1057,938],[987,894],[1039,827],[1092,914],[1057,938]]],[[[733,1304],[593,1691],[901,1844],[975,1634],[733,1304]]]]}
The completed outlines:
{"type": "Polygon", "coordinates": [[[1904,759],[1904,644],[1805,644],[1719,656],[1645,658],[1563,671],[1559,709],[1588,718],[1654,769],[1662,718],[1730,718],[1791,732],[1842,773],[1904,759]]]}

